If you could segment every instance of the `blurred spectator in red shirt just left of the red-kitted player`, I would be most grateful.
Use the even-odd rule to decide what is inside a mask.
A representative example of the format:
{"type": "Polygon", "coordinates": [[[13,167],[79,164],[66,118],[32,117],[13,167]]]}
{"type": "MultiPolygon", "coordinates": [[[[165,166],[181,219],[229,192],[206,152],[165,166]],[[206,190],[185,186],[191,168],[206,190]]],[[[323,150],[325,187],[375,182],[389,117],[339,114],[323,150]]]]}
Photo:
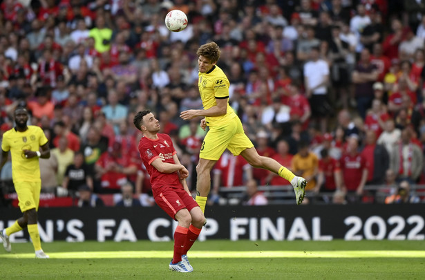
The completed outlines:
{"type": "Polygon", "coordinates": [[[131,156],[122,153],[120,142],[114,142],[111,151],[102,153],[95,164],[97,176],[103,193],[119,193],[122,185],[127,183],[127,176],[134,175],[138,167],[131,156]]]}

